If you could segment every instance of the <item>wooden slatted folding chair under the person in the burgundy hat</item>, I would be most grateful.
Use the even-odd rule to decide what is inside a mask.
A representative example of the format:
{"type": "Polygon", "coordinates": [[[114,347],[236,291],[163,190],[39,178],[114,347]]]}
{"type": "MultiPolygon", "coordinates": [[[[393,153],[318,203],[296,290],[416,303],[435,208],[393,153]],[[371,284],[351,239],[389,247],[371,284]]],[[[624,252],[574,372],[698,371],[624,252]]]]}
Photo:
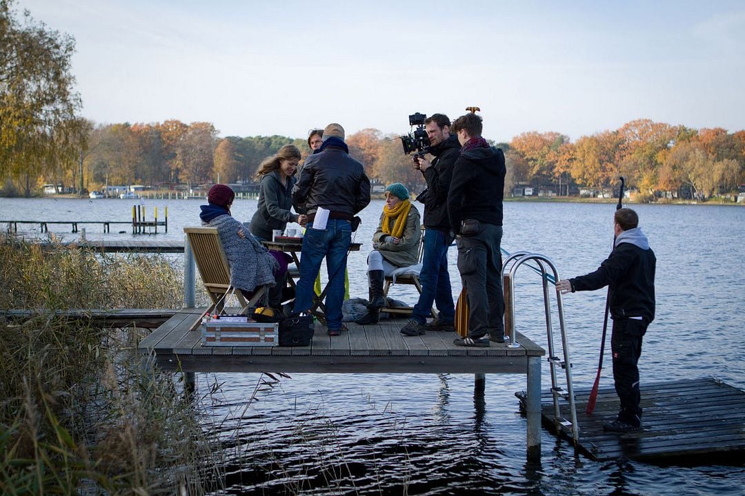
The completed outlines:
{"type": "MultiPolygon", "coordinates": [[[[226,293],[233,291],[233,288],[230,286],[230,265],[223,251],[218,229],[184,228],[184,232],[191,246],[191,253],[194,254],[194,262],[197,264],[204,289],[212,299],[212,306],[209,307],[207,313],[212,309],[222,312],[226,293]]],[[[246,301],[240,290],[235,291],[234,294],[241,305],[241,313],[246,313],[248,309],[256,308],[256,303],[266,293],[267,286],[260,286],[249,301],[246,301]]]]}

